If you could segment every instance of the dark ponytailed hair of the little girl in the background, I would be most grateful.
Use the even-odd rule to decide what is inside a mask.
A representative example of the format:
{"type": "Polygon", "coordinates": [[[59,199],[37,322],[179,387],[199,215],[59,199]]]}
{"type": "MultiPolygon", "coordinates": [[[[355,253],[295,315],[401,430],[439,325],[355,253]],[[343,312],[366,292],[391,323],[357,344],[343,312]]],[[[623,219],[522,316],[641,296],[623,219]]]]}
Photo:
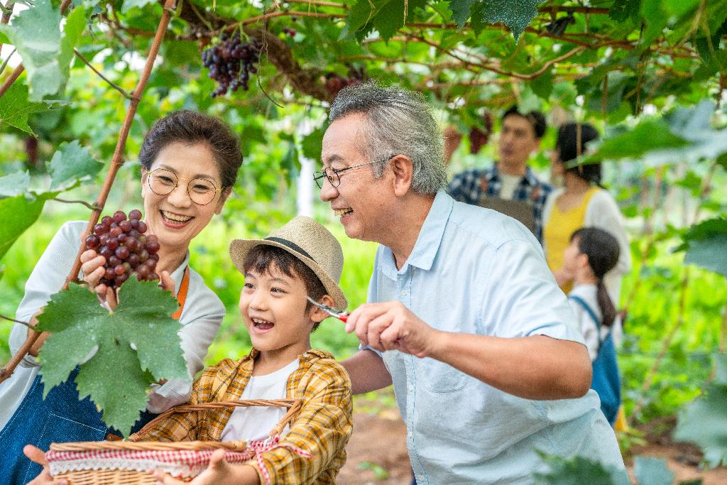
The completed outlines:
{"type": "Polygon", "coordinates": [[[596,299],[603,314],[603,324],[611,326],[616,319],[616,307],[608,296],[603,276],[619,262],[619,241],[611,233],[598,228],[580,228],[571,235],[571,242],[578,240],[578,250],[588,257],[588,265],[598,280],[596,299]]]}

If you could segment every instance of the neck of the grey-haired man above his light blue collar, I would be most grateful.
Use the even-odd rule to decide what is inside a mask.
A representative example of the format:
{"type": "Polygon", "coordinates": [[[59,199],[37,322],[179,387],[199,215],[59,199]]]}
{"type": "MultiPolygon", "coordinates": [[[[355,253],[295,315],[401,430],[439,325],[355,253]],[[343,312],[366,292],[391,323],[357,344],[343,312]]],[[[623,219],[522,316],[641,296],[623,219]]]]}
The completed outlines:
{"type": "Polygon", "coordinates": [[[410,193],[406,198],[402,209],[397,211],[398,217],[387,223],[387,227],[392,228],[391,233],[377,241],[391,249],[398,269],[401,269],[414,250],[414,244],[417,244],[424,221],[434,204],[434,196],[410,193]]]}

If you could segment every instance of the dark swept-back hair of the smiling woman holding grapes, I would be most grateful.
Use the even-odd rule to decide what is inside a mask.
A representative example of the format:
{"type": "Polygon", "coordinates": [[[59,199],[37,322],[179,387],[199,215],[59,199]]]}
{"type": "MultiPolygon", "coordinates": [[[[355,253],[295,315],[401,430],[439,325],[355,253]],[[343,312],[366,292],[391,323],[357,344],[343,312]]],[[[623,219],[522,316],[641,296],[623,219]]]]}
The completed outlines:
{"type": "Polygon", "coordinates": [[[156,121],[144,137],[139,152],[142,167],[149,170],[159,152],[169,143],[205,143],[220,169],[222,188],[235,185],[242,164],[240,141],[224,121],[196,111],[174,111],[156,121]]]}

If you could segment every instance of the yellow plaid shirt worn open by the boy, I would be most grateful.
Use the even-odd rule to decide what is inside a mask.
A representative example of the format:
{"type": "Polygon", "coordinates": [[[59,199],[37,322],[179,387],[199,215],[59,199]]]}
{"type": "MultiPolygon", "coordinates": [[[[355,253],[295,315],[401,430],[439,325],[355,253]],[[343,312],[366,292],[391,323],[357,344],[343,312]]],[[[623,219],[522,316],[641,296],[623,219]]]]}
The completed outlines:
{"type": "MultiPolygon", "coordinates": [[[[189,404],[238,400],[258,353],[252,349],[239,361],[226,358],[205,369],[193,385],[189,404]]],[[[334,484],[346,462],[345,446],[353,430],[351,382],[330,353],[308,350],[299,359],[298,369],[288,378],[286,397],[302,399],[302,408],[280,443],[302,449],[312,457],[279,447],[264,452],[262,459],[273,484],[334,484]]],[[[220,441],[232,412],[233,408],[225,408],[172,414],[144,436],[132,435],[129,440],[220,441]]],[[[247,464],[254,466],[260,483],[265,483],[257,462],[250,460],[247,464]]]]}

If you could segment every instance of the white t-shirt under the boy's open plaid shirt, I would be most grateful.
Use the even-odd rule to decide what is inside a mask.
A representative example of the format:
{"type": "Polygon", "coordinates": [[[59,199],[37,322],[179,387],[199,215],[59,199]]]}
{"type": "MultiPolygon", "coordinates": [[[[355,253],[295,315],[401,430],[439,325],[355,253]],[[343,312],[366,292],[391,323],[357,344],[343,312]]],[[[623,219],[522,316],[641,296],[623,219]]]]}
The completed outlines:
{"type": "MultiPolygon", "coordinates": [[[[242,400],[246,399],[284,399],[287,397],[287,384],[290,374],[298,368],[298,360],[292,361],[282,369],[265,375],[254,375],[242,391],[242,400]]],[[[222,441],[252,441],[268,438],[273,426],[283,418],[287,408],[273,406],[240,406],[230,416],[225,429],[222,430],[222,441]]],[[[286,427],[281,436],[287,433],[286,427]]]]}

